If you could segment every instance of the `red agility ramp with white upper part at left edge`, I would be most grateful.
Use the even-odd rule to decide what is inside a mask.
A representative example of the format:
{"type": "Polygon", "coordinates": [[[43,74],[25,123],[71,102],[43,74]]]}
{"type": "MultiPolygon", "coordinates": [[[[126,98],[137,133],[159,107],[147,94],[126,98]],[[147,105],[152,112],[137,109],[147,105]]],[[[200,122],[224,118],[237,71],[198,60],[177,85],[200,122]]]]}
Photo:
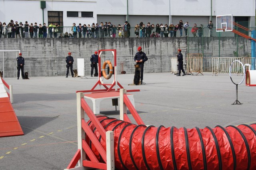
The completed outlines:
{"type": "Polygon", "coordinates": [[[10,102],[10,94],[6,92],[4,86],[10,89],[0,78],[0,137],[24,135],[10,102]]]}

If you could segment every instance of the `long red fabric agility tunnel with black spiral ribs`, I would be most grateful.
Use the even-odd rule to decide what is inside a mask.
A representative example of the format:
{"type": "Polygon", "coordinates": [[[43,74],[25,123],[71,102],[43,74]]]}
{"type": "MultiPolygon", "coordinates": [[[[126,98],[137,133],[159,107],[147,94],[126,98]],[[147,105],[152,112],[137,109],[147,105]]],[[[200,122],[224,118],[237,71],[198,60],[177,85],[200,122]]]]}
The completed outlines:
{"type": "MultiPolygon", "coordinates": [[[[106,131],[114,131],[118,170],[256,170],[256,124],[178,129],[135,125],[106,116],[97,119],[106,131]]],[[[92,121],[87,124],[106,147],[92,121]]],[[[86,142],[102,161],[87,136],[86,142]]]]}

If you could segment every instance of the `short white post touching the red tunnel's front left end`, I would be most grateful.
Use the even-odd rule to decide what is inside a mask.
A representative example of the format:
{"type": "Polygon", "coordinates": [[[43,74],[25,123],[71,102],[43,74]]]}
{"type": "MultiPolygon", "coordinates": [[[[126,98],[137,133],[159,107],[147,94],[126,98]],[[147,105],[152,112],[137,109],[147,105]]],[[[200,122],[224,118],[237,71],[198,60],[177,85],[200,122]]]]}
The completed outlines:
{"type": "Polygon", "coordinates": [[[107,170],[115,169],[114,132],[106,132],[107,170]]]}

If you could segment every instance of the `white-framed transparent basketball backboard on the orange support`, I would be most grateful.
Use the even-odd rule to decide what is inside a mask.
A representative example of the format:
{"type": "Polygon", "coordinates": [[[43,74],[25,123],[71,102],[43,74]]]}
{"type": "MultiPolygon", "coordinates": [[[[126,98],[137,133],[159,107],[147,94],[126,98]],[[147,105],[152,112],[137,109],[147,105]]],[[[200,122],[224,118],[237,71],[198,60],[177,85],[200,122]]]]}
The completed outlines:
{"type": "Polygon", "coordinates": [[[232,31],[233,30],[233,15],[216,16],[216,32],[232,31]]]}

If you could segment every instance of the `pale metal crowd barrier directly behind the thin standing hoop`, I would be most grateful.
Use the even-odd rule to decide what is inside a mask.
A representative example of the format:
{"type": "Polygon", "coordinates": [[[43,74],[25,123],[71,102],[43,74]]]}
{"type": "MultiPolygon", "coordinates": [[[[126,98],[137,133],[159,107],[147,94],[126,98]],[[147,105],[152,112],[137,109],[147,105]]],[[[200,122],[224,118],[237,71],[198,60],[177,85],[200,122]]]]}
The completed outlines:
{"type": "MultiPolygon", "coordinates": [[[[242,57],[213,57],[212,58],[212,75],[218,73],[229,73],[229,67],[234,61],[241,61],[242,57]]],[[[242,74],[243,68],[240,63],[232,64],[231,73],[242,74]]]]}

